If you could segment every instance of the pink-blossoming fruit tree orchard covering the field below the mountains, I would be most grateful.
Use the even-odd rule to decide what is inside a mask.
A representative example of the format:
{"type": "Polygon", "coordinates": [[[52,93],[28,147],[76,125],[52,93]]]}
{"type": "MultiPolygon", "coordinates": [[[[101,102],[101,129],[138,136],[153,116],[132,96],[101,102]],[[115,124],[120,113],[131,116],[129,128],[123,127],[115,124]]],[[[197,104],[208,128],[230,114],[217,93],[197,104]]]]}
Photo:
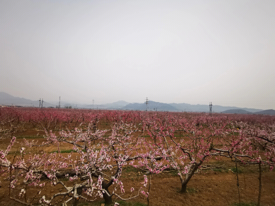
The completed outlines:
{"type": "Polygon", "coordinates": [[[271,116],[0,108],[0,126],[0,141],[10,140],[0,150],[0,172],[9,180],[7,197],[24,205],[76,206],[98,198],[112,204],[114,198],[139,195],[149,202],[151,174],[175,170],[185,193],[194,174],[221,156],[236,165],[265,164],[271,171],[275,165],[271,116]],[[44,132],[42,141],[17,140],[31,128],[44,132]],[[11,153],[16,142],[20,147],[11,153]],[[61,145],[72,152],[61,153],[61,145]],[[41,150],[46,147],[58,152],[41,150]],[[130,191],[125,191],[121,178],[127,165],[146,173],[144,182],[130,191]],[[53,187],[62,185],[62,191],[42,196],[49,182],[53,187]],[[27,197],[30,188],[35,193],[27,197]]]}

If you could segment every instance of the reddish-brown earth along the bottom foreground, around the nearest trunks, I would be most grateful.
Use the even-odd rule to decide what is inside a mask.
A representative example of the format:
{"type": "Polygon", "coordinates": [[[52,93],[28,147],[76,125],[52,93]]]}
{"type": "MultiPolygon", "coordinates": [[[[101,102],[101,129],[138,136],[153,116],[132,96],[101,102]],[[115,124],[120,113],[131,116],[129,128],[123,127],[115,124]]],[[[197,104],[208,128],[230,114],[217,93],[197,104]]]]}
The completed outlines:
{"type": "MultiPolygon", "coordinates": [[[[130,187],[140,185],[143,181],[143,175],[138,172],[129,172],[123,175],[123,185],[125,191],[130,187]]],[[[263,172],[262,174],[262,205],[275,205],[275,173],[263,172]]],[[[239,174],[240,197],[241,202],[257,202],[258,198],[258,174],[245,173],[246,186],[244,187],[244,175],[239,174]]],[[[1,178],[0,204],[1,205],[20,205],[14,201],[5,198],[8,193],[9,181],[1,178]]],[[[152,185],[150,190],[151,205],[188,205],[188,206],[220,206],[232,205],[237,203],[238,188],[236,184],[236,175],[229,172],[207,171],[196,174],[188,183],[188,193],[178,193],[180,182],[177,176],[159,174],[152,176],[152,185]]],[[[42,195],[51,196],[61,190],[61,186],[52,188],[49,184],[45,188],[46,192],[42,195]]],[[[29,190],[29,193],[34,192],[29,190]]],[[[139,196],[132,200],[134,202],[147,203],[147,198],[139,196]]]]}

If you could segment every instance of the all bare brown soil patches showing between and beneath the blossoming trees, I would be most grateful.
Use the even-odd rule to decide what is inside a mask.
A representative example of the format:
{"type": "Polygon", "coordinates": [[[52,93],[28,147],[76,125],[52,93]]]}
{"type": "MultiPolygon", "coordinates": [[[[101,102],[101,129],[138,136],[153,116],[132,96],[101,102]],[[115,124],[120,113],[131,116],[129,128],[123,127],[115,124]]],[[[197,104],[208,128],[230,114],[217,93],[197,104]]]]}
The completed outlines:
{"type": "MultiPolygon", "coordinates": [[[[35,136],[39,133],[39,136],[43,136],[44,132],[31,128],[25,131],[21,136],[35,136]]],[[[38,136],[38,137],[39,137],[38,136]]],[[[44,141],[41,137],[38,139],[28,139],[29,141],[38,141],[38,143],[44,141]]],[[[23,139],[18,138],[18,142],[23,139]]],[[[0,149],[4,149],[9,144],[10,139],[2,140],[0,143],[0,149]]],[[[20,147],[20,143],[16,143],[11,152],[16,152],[16,148],[20,147]]],[[[71,146],[61,145],[61,150],[72,149],[71,146]]],[[[42,148],[44,152],[53,152],[56,147],[50,146],[42,148]]],[[[235,163],[228,160],[219,158],[218,160],[211,159],[206,164],[222,165],[227,169],[216,169],[201,171],[195,174],[188,183],[187,193],[181,194],[180,180],[175,172],[162,172],[161,174],[152,175],[152,185],[150,190],[150,205],[186,205],[186,206],[232,206],[239,202],[237,177],[236,173],[232,171],[235,163]]],[[[258,198],[258,167],[257,166],[240,166],[241,173],[238,174],[240,184],[240,200],[243,205],[253,205],[258,198]]],[[[143,172],[128,166],[124,168],[122,173],[122,182],[125,187],[125,191],[130,191],[130,188],[134,186],[138,188],[140,183],[144,181],[143,172]]],[[[9,191],[9,180],[0,176],[0,205],[20,205],[13,200],[7,198],[9,191]]],[[[62,186],[57,185],[55,187],[48,184],[45,187],[45,191],[42,195],[51,196],[56,192],[61,192],[62,186]]],[[[34,193],[32,188],[29,188],[28,193],[34,193]]],[[[127,195],[127,192],[126,194],[127,195]]],[[[120,205],[147,205],[147,197],[140,195],[139,197],[130,200],[130,203],[120,202],[120,205]],[[140,204],[137,204],[139,202],[140,204]]],[[[102,200],[98,199],[98,202],[87,203],[81,202],[79,205],[101,205],[102,200]]],[[[270,172],[268,168],[263,167],[262,173],[262,196],[261,205],[267,206],[275,205],[275,172],[270,172]]]]}

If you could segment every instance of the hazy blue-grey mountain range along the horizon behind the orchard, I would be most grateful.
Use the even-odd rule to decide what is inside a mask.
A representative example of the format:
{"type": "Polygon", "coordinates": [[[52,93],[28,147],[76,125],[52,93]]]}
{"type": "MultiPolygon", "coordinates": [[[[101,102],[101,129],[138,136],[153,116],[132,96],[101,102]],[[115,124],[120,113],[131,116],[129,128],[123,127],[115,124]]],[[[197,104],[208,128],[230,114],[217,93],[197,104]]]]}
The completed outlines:
{"type": "MultiPolygon", "coordinates": [[[[145,103],[129,103],[126,101],[117,101],[113,103],[101,104],[101,105],[84,105],[84,104],[73,104],[69,102],[62,101],[61,107],[72,106],[72,108],[87,108],[87,109],[125,109],[125,110],[145,110],[145,103]]],[[[39,101],[32,101],[25,98],[13,97],[5,92],[0,92],[0,105],[18,105],[18,106],[35,106],[39,107],[39,101]]],[[[43,107],[56,107],[58,104],[52,104],[44,101],[43,107]]],[[[161,103],[155,101],[149,101],[147,105],[149,111],[186,111],[186,112],[208,112],[209,105],[191,105],[186,103],[161,103]]],[[[223,112],[223,113],[239,113],[239,114],[275,114],[273,109],[262,110],[253,108],[238,108],[230,106],[220,106],[213,105],[213,112],[223,112]]]]}

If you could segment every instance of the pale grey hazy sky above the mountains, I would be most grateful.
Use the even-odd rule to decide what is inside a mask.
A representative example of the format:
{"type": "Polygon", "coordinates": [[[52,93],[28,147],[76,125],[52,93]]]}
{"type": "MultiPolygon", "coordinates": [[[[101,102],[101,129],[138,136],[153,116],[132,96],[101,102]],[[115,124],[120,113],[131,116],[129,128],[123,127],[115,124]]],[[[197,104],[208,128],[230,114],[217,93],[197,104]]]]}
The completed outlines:
{"type": "Polygon", "coordinates": [[[275,1],[0,0],[0,91],[275,109],[275,1]]]}

